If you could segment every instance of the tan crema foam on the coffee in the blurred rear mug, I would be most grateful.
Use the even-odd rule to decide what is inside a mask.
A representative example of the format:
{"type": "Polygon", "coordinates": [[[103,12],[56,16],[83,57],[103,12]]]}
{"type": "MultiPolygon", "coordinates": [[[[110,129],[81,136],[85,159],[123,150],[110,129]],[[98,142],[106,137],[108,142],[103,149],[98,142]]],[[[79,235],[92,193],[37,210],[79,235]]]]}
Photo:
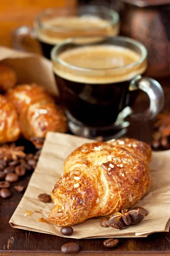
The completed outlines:
{"type": "MultiPolygon", "coordinates": [[[[99,17],[84,15],[81,17],[57,17],[44,21],[42,26],[49,26],[49,29],[36,26],[37,39],[47,44],[60,44],[67,38],[82,35],[117,35],[119,24],[111,26],[108,20],[99,17]],[[58,28],[57,31],[50,30],[50,26],[58,28]]],[[[88,39],[89,40],[89,39],[88,39]]]]}

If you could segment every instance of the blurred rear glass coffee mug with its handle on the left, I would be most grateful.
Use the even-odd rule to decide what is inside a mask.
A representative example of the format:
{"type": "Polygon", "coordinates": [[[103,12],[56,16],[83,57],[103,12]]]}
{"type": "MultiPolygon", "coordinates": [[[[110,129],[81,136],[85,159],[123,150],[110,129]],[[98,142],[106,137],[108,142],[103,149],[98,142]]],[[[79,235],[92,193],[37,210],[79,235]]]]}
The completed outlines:
{"type": "Polygon", "coordinates": [[[14,32],[14,47],[26,49],[26,38],[34,38],[41,45],[42,53],[50,59],[52,47],[67,38],[81,35],[118,35],[119,14],[100,6],[77,8],[51,8],[40,13],[34,29],[22,26],[14,32]]]}

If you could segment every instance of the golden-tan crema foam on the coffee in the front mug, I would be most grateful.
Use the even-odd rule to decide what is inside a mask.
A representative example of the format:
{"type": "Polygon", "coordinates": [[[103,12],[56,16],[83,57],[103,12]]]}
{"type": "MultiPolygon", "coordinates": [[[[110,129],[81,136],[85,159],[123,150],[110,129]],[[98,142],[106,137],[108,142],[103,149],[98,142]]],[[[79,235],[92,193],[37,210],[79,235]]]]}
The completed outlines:
{"type": "Polygon", "coordinates": [[[126,67],[139,61],[141,56],[131,49],[107,44],[76,47],[60,53],[57,57],[77,68],[53,61],[54,73],[79,83],[108,84],[128,81],[144,73],[147,67],[146,60],[133,67],[126,67]]]}

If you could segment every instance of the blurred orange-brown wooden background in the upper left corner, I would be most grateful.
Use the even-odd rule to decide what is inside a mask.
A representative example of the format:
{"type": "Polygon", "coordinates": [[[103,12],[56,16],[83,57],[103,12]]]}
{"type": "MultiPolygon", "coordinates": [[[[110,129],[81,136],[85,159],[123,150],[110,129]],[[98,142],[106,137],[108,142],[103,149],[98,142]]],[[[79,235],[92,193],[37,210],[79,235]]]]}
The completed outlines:
{"type": "Polygon", "coordinates": [[[73,6],[77,0],[0,0],[0,44],[12,47],[12,33],[32,25],[39,12],[50,7],[73,6]]]}

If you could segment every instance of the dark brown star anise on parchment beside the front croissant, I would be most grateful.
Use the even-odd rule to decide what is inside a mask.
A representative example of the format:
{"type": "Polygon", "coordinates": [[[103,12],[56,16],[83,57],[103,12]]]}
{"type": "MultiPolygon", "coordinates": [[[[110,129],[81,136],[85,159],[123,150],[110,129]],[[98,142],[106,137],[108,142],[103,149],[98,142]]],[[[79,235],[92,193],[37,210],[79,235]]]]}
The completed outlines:
{"type": "Polygon", "coordinates": [[[122,230],[124,227],[128,227],[131,224],[139,224],[144,218],[144,215],[137,210],[122,210],[121,212],[115,213],[106,223],[109,227],[122,230]]]}

